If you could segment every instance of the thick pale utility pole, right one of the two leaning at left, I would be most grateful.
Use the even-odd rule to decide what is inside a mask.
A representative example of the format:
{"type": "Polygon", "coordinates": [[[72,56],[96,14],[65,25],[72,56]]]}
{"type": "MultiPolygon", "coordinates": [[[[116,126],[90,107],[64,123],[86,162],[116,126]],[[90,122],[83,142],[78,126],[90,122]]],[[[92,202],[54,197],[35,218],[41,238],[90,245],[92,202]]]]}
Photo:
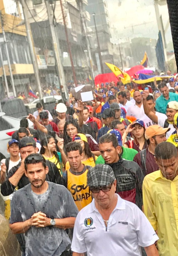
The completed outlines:
{"type": "Polygon", "coordinates": [[[53,49],[54,49],[54,53],[55,53],[55,57],[56,57],[57,73],[58,73],[58,77],[60,78],[60,84],[63,85],[64,91],[65,91],[65,97],[68,100],[68,98],[69,98],[68,90],[66,87],[64,70],[63,70],[63,66],[61,63],[61,59],[60,59],[59,40],[56,35],[56,31],[55,31],[55,28],[53,25],[53,19],[52,19],[52,15],[51,15],[52,8],[51,8],[51,5],[49,4],[48,0],[45,0],[45,4],[46,4],[48,20],[49,20],[49,24],[50,24],[51,36],[52,36],[52,41],[53,41],[53,49]]]}

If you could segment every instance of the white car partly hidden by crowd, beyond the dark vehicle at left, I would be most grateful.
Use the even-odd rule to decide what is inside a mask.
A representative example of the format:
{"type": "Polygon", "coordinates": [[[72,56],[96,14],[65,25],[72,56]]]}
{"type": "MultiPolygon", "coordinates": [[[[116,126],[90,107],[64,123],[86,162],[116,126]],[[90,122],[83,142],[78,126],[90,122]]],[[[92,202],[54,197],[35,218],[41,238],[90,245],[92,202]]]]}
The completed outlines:
{"type": "Polygon", "coordinates": [[[27,112],[33,114],[33,112],[36,111],[36,103],[41,102],[43,108],[52,113],[56,100],[58,100],[58,102],[62,102],[62,97],[60,95],[44,96],[43,99],[35,99],[33,102],[25,103],[24,105],[27,112]]]}

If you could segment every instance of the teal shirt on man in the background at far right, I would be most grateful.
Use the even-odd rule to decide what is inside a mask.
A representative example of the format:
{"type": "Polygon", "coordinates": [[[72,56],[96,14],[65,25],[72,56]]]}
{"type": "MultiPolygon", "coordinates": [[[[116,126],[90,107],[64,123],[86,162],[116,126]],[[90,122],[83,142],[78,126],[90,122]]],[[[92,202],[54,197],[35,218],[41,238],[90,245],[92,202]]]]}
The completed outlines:
{"type": "Polygon", "coordinates": [[[166,100],[163,95],[159,96],[156,99],[156,111],[165,114],[166,113],[166,107],[167,104],[170,101],[177,101],[178,102],[178,94],[177,93],[169,93],[169,99],[166,100]]]}

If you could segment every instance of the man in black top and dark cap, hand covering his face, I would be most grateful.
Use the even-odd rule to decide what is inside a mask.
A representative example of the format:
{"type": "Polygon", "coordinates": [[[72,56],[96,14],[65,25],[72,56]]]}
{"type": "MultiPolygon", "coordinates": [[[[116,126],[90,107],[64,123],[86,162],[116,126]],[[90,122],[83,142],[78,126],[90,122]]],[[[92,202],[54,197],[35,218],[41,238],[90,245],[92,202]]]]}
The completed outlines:
{"type": "MultiPolygon", "coordinates": [[[[32,137],[22,138],[19,141],[19,150],[22,161],[9,170],[6,181],[2,183],[1,194],[4,196],[12,194],[16,187],[21,189],[29,183],[28,178],[24,174],[24,160],[29,154],[38,152],[35,140],[32,137]]],[[[63,185],[63,180],[56,165],[48,160],[46,160],[46,165],[49,168],[46,180],[63,185]]]]}

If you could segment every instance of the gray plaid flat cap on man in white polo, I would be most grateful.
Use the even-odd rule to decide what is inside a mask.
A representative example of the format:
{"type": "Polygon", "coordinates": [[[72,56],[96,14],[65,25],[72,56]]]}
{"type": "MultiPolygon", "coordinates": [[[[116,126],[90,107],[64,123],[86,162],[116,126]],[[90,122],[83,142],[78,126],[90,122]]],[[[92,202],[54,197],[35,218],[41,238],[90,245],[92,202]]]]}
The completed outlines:
{"type": "Polygon", "coordinates": [[[115,180],[114,172],[109,165],[96,165],[87,173],[89,187],[107,186],[115,180]]]}

